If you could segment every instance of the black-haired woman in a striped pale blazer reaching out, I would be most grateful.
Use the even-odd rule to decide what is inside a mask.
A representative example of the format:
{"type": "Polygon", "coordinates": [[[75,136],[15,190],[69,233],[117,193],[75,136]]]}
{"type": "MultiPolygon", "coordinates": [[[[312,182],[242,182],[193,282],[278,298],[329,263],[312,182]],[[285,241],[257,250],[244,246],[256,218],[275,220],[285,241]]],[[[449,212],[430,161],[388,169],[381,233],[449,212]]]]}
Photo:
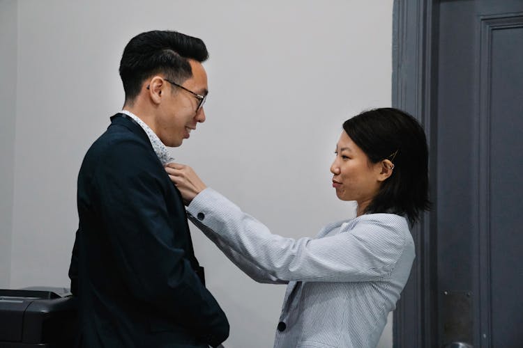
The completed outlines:
{"type": "Polygon", "coordinates": [[[274,347],[376,347],[414,260],[409,232],[427,199],[427,141],[397,109],[366,111],[343,124],[331,166],[354,219],[315,238],[273,235],[188,166],[166,171],[195,225],[260,283],[288,283],[274,347]]]}

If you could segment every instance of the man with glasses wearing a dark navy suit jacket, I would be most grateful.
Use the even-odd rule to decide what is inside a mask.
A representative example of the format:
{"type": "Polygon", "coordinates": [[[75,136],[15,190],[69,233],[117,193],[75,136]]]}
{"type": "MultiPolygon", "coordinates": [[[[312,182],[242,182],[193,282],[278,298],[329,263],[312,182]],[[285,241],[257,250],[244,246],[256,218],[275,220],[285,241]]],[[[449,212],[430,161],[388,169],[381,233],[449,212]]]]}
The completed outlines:
{"type": "Polygon", "coordinates": [[[78,175],[69,276],[80,347],[216,347],[229,335],[164,170],[165,147],[205,120],[206,58],[202,40],[174,31],[141,33],[123,51],[126,102],[78,175]]]}

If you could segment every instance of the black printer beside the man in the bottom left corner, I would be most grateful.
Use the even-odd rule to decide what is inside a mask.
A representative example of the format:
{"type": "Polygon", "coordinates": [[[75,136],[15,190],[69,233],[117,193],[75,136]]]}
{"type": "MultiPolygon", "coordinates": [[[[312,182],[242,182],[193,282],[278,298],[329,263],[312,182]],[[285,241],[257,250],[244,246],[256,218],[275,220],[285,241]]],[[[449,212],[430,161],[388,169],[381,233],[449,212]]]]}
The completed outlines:
{"type": "Polygon", "coordinates": [[[71,348],[77,304],[66,288],[0,289],[0,348],[71,348]]]}

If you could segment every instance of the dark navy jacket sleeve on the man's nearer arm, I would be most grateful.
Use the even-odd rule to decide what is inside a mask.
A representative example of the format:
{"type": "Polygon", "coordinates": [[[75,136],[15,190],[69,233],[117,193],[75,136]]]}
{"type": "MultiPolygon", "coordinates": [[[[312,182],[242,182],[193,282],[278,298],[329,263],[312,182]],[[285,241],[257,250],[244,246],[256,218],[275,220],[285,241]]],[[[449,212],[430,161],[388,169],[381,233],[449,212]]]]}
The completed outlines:
{"type": "MultiPolygon", "coordinates": [[[[165,200],[165,183],[171,182],[158,167],[141,143],[112,144],[93,173],[96,209],[130,292],[216,346],[229,335],[229,323],[176,241],[179,226],[169,219],[165,200]]],[[[186,223],[181,212],[179,221],[186,223]]]]}

